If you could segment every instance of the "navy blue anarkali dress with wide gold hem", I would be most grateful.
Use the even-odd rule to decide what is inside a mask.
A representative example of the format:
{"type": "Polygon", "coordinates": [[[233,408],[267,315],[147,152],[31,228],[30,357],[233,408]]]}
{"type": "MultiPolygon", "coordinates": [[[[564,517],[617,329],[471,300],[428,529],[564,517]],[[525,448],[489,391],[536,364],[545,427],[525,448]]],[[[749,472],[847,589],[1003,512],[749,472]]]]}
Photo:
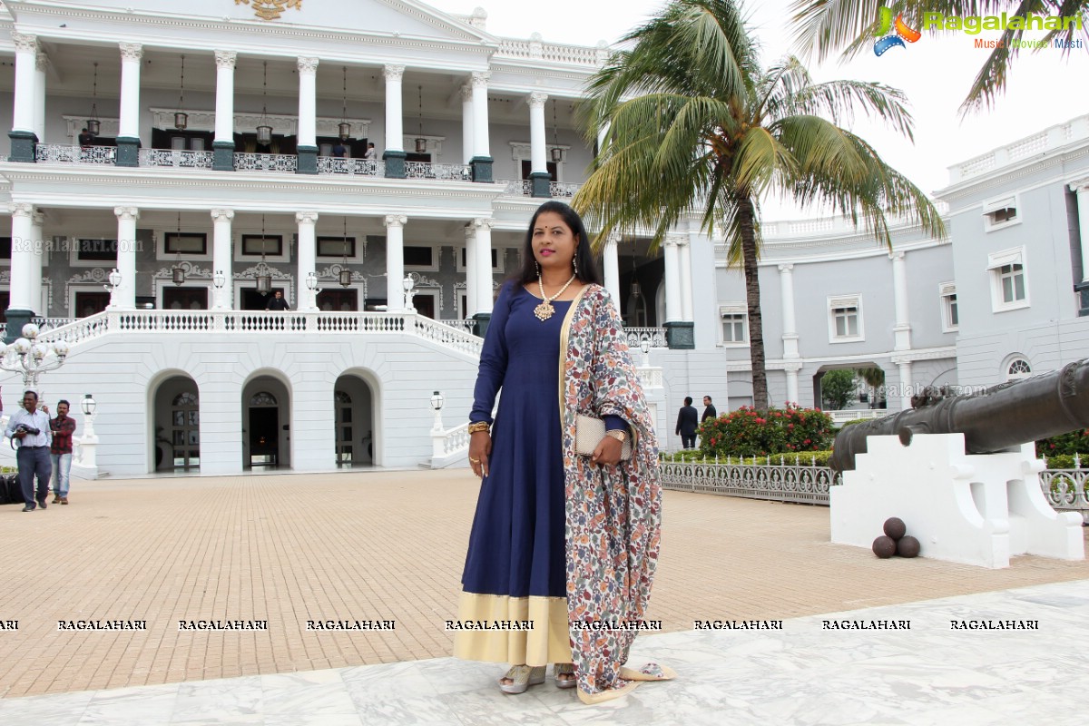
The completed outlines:
{"type": "Polygon", "coordinates": [[[472,421],[490,421],[489,473],[469,536],[458,619],[531,620],[531,630],[458,631],[454,655],[570,663],[560,424],[560,333],[570,302],[538,320],[540,298],[503,286],[480,354],[472,421]]]}

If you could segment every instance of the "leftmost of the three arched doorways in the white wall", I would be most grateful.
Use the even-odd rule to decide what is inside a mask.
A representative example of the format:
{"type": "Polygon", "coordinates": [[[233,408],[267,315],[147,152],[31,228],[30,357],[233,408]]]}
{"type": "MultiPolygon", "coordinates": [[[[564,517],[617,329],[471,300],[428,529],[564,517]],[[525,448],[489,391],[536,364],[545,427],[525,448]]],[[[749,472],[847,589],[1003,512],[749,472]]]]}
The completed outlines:
{"type": "Polygon", "coordinates": [[[196,381],[171,376],[154,398],[155,471],[200,468],[200,397],[196,381]]]}

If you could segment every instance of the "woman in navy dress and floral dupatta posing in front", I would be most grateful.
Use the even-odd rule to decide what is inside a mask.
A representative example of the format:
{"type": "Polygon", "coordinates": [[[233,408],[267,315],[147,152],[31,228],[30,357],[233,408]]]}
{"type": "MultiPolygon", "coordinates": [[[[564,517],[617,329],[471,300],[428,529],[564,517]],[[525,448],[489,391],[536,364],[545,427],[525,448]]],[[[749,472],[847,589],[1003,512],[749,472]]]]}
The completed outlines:
{"type": "Polygon", "coordinates": [[[511,663],[499,681],[509,693],[543,682],[554,663],[556,686],[577,685],[586,703],[672,677],[622,667],[636,632],[624,626],[644,620],[658,559],[658,451],[623,324],[566,205],[546,202],[529,223],[474,396],[469,464],[482,482],[458,620],[531,629],[458,630],[454,655],[511,663]],[[578,415],[604,420],[589,455],[577,453],[578,415]],[[621,462],[625,442],[634,453],[621,462]]]}

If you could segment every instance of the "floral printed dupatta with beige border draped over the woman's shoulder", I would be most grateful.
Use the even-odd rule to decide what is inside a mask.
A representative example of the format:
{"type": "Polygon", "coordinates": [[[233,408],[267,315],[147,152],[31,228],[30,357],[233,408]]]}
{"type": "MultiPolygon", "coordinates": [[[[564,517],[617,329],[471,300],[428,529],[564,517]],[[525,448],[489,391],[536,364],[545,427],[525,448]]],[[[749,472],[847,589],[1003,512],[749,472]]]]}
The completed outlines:
{"type": "Polygon", "coordinates": [[[658,443],[623,323],[600,285],[572,303],[560,355],[567,616],[578,687],[592,694],[625,685],[620,669],[650,600],[661,530],[658,443]],[[596,466],[579,456],[577,414],[624,418],[632,459],[596,466]]]}

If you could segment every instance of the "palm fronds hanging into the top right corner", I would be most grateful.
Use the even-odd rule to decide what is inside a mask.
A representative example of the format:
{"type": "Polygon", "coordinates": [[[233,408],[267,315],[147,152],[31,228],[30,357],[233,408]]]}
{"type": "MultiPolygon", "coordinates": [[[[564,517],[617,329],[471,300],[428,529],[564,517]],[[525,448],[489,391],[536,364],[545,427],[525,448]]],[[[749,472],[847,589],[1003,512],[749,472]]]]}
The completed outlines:
{"type": "MultiPolygon", "coordinates": [[[[1087,9],[1089,0],[795,0],[791,7],[797,46],[806,52],[816,52],[819,61],[840,48],[845,49],[845,58],[868,51],[873,47],[876,36],[889,32],[889,22],[884,19],[897,15],[903,16],[908,27],[919,29],[922,27],[925,12],[962,19],[1002,13],[1011,16],[1032,14],[1070,17],[1082,15],[1087,9]],[[889,12],[882,14],[882,7],[888,8],[889,12]]],[[[1063,53],[1068,54],[1076,47],[1074,41],[1079,30],[1070,23],[1066,29],[1050,30],[1044,40],[1049,46],[1056,39],[1062,41],[1063,53]]],[[[926,33],[952,34],[962,30],[927,28],[926,33]]],[[[960,106],[963,113],[993,108],[995,98],[1006,87],[1006,75],[1020,51],[1018,41],[1024,33],[1023,29],[1003,30],[1001,45],[987,57],[960,106]]]]}

